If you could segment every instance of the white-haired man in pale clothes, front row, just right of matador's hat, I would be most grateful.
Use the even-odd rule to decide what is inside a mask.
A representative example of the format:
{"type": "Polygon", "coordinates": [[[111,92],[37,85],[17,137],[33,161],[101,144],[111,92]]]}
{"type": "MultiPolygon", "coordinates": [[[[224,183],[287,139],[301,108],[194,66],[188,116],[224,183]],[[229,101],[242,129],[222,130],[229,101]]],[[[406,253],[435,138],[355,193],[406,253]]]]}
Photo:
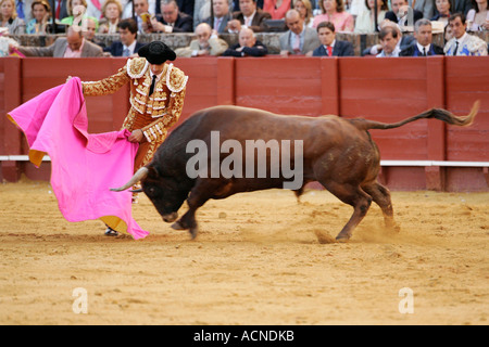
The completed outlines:
{"type": "Polygon", "coordinates": [[[218,56],[228,48],[225,40],[220,39],[216,33],[206,23],[201,23],[196,27],[196,40],[190,41],[189,47],[175,50],[177,56],[218,56]]]}

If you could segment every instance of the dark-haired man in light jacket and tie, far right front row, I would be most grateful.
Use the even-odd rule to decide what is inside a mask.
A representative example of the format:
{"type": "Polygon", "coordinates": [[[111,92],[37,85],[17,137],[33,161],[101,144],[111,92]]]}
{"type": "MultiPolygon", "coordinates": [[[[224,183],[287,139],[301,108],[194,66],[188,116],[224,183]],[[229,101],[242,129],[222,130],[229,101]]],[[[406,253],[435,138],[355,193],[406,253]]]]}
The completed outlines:
{"type": "Polygon", "coordinates": [[[465,15],[454,13],[449,18],[453,38],[444,46],[446,55],[487,55],[487,43],[465,30],[465,15]]]}

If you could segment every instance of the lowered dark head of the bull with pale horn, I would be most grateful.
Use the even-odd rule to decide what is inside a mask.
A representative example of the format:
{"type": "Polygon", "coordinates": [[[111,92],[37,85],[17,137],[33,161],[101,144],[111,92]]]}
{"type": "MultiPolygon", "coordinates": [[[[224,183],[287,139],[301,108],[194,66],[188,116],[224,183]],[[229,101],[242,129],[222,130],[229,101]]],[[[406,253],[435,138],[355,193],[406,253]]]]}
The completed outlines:
{"type": "Polygon", "coordinates": [[[141,182],[142,191],[151,200],[164,221],[172,222],[177,219],[178,209],[187,198],[188,190],[181,190],[173,177],[161,176],[155,167],[145,166],[126,184],[111,189],[111,191],[125,191],[137,182],[141,182]]]}

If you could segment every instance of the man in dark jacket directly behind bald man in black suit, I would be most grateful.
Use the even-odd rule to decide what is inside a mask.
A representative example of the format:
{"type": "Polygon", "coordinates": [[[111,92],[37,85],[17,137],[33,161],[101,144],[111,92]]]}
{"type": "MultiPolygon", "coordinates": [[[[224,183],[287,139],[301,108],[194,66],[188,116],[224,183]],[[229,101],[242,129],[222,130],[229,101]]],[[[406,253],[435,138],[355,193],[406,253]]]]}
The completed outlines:
{"type": "Polygon", "coordinates": [[[233,13],[233,20],[228,22],[229,31],[240,33],[241,26],[251,28],[254,33],[264,31],[264,21],[271,20],[268,12],[256,8],[256,0],[239,0],[241,11],[233,13]]]}

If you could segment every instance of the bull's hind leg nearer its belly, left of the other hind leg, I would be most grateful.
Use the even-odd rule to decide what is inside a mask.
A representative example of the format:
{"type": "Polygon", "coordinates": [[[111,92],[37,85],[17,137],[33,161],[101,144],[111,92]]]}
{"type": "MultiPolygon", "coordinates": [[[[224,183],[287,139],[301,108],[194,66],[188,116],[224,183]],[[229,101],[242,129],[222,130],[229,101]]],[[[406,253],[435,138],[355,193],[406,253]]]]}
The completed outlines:
{"type": "Polygon", "coordinates": [[[348,241],[351,237],[353,230],[368,211],[372,204],[372,196],[366,194],[360,185],[353,187],[350,184],[340,184],[336,182],[322,182],[322,184],[340,201],[353,206],[353,215],[350,217],[350,220],[340,233],[336,236],[337,241],[348,241]]]}

